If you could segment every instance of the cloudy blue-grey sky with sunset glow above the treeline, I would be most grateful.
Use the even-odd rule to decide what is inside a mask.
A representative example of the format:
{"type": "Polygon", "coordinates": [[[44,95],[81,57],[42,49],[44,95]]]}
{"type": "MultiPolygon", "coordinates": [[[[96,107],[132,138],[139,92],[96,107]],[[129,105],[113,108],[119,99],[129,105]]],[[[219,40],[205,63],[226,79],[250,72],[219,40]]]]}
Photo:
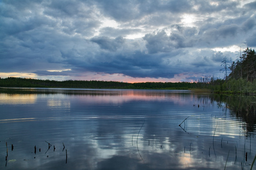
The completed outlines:
{"type": "Polygon", "coordinates": [[[1,78],[195,82],[247,46],[251,0],[0,0],[1,78]]]}

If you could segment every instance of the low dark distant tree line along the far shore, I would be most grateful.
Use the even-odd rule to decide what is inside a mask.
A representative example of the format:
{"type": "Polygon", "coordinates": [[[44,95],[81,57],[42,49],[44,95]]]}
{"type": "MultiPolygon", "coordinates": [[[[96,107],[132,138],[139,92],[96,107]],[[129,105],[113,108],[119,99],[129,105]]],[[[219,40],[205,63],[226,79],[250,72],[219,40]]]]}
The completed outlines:
{"type": "Polygon", "coordinates": [[[188,90],[191,88],[201,88],[204,82],[145,82],[145,83],[125,83],[114,81],[97,80],[39,80],[31,78],[0,78],[0,87],[44,87],[44,88],[123,88],[123,89],[168,89],[168,90],[188,90]]]}

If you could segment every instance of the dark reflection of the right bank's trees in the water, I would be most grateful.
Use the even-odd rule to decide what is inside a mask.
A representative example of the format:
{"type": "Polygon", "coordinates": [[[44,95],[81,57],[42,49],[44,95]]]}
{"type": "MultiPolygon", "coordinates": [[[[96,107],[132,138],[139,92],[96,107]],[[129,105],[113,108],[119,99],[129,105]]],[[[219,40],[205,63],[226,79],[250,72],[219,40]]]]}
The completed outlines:
{"type": "Polygon", "coordinates": [[[247,132],[255,130],[256,124],[256,97],[255,96],[226,96],[216,95],[214,100],[225,102],[224,109],[229,108],[230,114],[246,122],[247,132]]]}

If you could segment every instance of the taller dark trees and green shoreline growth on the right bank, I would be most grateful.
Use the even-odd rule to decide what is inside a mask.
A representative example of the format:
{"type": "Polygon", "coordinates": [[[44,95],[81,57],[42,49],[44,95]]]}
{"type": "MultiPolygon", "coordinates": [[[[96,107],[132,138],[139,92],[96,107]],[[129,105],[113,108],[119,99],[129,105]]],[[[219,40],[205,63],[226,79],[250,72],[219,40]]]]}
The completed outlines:
{"type": "Polygon", "coordinates": [[[247,47],[239,59],[230,64],[224,57],[222,66],[225,78],[210,79],[208,85],[210,90],[229,94],[256,94],[256,54],[254,49],[247,47]]]}

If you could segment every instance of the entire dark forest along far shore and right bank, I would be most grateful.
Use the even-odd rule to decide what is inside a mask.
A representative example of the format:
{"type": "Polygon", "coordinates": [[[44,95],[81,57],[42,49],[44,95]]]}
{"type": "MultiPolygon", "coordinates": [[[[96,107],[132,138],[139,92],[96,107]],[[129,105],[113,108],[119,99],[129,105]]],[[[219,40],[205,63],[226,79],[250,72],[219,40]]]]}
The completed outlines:
{"type": "Polygon", "coordinates": [[[0,87],[44,87],[44,88],[118,88],[118,89],[159,89],[159,90],[207,90],[221,94],[256,94],[256,54],[247,48],[237,61],[222,61],[224,79],[202,78],[197,82],[144,82],[125,83],[98,80],[39,80],[31,78],[0,78],[0,87]],[[229,74],[228,74],[229,73],[229,74]]]}

